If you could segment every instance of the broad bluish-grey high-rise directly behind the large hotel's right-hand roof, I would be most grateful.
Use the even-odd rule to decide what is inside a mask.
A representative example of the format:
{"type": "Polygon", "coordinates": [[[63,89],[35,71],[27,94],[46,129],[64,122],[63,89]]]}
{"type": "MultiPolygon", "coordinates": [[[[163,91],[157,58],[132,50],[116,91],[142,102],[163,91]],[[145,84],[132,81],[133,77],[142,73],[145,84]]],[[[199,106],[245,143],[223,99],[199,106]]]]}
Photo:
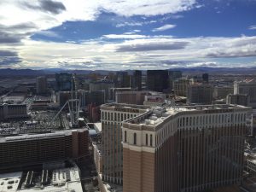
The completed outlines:
{"type": "Polygon", "coordinates": [[[187,103],[211,104],[212,92],[211,84],[189,84],[187,103]]]}

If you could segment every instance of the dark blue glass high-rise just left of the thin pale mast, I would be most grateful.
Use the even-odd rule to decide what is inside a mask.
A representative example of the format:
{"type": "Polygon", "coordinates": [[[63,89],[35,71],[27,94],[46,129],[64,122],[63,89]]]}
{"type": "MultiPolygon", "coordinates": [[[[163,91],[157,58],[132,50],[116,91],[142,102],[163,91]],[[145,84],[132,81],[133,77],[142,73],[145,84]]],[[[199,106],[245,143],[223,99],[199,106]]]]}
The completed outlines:
{"type": "Polygon", "coordinates": [[[72,89],[72,74],[56,73],[55,79],[56,79],[57,90],[69,91],[72,89]]]}

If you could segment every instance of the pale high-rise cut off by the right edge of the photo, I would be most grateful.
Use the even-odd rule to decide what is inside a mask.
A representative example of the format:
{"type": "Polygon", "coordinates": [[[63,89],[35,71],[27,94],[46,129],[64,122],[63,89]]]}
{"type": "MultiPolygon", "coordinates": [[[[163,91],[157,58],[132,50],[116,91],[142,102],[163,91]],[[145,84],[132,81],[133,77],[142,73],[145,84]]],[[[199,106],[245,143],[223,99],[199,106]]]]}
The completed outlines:
{"type": "Polygon", "coordinates": [[[234,83],[234,94],[247,94],[248,106],[256,108],[256,79],[246,79],[234,83]]]}

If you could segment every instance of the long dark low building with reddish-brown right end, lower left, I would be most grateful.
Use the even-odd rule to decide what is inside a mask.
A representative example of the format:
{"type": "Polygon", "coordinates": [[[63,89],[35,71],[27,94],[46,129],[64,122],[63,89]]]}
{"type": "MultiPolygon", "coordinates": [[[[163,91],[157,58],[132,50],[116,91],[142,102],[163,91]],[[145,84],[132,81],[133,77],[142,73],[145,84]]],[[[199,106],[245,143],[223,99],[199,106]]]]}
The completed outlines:
{"type": "Polygon", "coordinates": [[[0,171],[53,160],[84,160],[89,154],[88,130],[0,138],[0,171]]]}

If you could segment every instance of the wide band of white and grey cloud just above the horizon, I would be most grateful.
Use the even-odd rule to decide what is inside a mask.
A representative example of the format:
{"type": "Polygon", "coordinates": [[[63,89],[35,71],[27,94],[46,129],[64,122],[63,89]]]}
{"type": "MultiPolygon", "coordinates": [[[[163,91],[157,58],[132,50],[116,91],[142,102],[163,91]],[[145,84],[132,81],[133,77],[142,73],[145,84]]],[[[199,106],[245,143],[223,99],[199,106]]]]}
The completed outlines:
{"type": "MultiPolygon", "coordinates": [[[[123,42],[90,41],[84,44],[25,40],[19,50],[19,65],[13,67],[65,67],[120,70],[129,68],[168,68],[214,66],[241,67],[241,57],[256,57],[256,37],[241,38],[164,38],[125,39],[123,42]],[[61,53],[61,55],[60,55],[61,53]],[[228,65],[219,59],[235,60],[228,65]],[[236,62],[237,58],[237,62],[236,62]],[[235,64],[234,64],[235,63],[235,64]]],[[[5,47],[12,51],[13,47],[5,47]]],[[[10,61],[8,61],[10,62],[10,61]]],[[[255,66],[247,62],[243,66],[255,66]]]]}

